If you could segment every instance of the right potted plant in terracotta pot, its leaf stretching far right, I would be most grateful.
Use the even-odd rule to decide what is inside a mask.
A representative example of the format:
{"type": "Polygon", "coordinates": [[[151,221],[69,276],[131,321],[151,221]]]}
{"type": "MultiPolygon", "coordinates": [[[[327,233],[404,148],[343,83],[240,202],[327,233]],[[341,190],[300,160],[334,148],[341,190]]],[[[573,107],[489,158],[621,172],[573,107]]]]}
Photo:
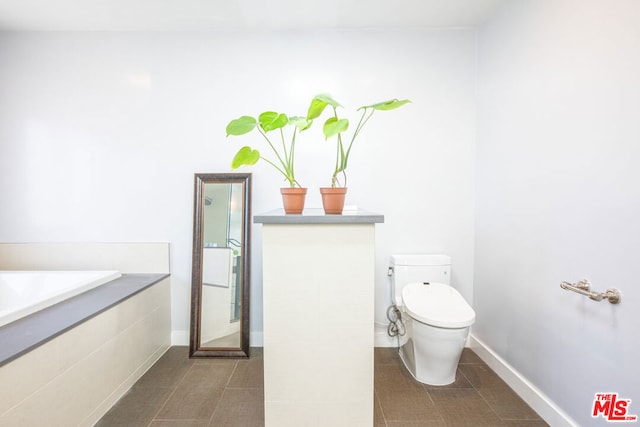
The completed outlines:
{"type": "Polygon", "coordinates": [[[336,162],[333,169],[333,175],[331,176],[331,187],[320,188],[322,194],[322,205],[325,213],[327,214],[341,214],[344,207],[344,198],[347,193],[347,166],[349,162],[349,154],[351,154],[351,148],[356,138],[362,131],[364,125],[367,124],[373,113],[376,111],[395,110],[403,105],[411,102],[408,99],[398,100],[391,99],[389,101],[377,102],[371,105],[365,105],[358,108],[358,111],[362,111],[362,116],[351,135],[351,139],[348,140],[348,144],[342,140],[343,132],[346,132],[349,128],[349,120],[346,118],[340,118],[338,116],[338,107],[342,107],[335,99],[330,95],[321,94],[316,95],[309,105],[307,111],[307,120],[312,121],[322,114],[327,106],[333,109],[333,115],[329,117],[322,127],[325,140],[336,137],[336,162]],[[339,180],[340,175],[343,178],[341,183],[339,180]]]}

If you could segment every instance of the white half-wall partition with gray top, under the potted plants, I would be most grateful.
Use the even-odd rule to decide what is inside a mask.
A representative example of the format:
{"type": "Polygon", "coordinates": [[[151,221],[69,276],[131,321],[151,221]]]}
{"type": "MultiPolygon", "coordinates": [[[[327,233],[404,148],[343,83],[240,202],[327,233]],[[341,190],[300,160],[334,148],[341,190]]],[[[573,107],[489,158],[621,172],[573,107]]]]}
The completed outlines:
{"type": "Polygon", "coordinates": [[[373,425],[375,225],[366,211],[256,215],[265,425],[373,425]]]}

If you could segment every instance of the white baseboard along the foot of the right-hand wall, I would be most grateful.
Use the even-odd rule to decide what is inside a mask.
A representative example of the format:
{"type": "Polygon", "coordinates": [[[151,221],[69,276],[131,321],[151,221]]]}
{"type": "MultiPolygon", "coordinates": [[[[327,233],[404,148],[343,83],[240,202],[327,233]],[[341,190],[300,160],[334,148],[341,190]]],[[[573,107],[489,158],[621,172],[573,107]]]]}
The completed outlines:
{"type": "Polygon", "coordinates": [[[534,411],[540,415],[549,425],[554,427],[577,427],[578,424],[560,409],[542,391],[530,383],[504,359],[498,356],[485,343],[473,336],[469,336],[471,349],[493,371],[498,374],[509,387],[515,391],[534,411]]]}

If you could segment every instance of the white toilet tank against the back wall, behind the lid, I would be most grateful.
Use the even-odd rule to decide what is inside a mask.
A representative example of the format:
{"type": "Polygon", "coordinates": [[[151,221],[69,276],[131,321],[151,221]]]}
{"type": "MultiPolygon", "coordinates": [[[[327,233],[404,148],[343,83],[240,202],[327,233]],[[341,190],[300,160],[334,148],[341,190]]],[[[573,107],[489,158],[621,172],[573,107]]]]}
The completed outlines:
{"type": "Polygon", "coordinates": [[[448,255],[391,255],[391,296],[402,305],[402,288],[414,282],[450,284],[451,257],[448,255]]]}

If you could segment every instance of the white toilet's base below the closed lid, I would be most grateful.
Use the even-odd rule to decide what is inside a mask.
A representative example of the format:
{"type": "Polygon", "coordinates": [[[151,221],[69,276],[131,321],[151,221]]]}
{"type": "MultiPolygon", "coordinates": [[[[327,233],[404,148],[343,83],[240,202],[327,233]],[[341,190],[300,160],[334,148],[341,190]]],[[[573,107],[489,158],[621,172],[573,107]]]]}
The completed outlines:
{"type": "Polygon", "coordinates": [[[437,328],[407,317],[406,339],[398,353],[409,373],[423,384],[453,383],[469,328],[437,328]]]}

